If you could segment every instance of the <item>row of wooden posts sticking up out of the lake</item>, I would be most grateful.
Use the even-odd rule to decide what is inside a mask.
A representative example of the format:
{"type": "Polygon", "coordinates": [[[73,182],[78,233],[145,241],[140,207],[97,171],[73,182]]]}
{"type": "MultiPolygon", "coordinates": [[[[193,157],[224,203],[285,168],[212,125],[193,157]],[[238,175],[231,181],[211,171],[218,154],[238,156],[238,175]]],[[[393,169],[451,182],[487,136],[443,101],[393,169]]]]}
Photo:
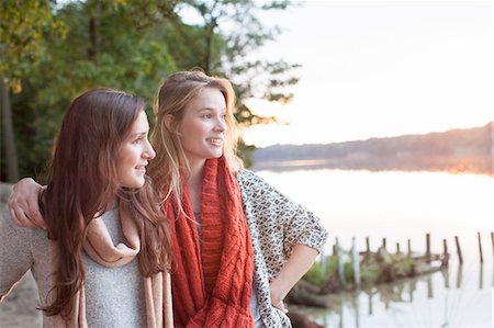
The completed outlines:
{"type": "MultiPolygon", "coordinates": [[[[482,264],[484,262],[484,256],[483,256],[483,250],[482,250],[482,237],[481,237],[481,233],[479,231],[478,234],[478,245],[479,245],[479,256],[480,256],[480,263],[482,264]]],[[[494,233],[491,233],[491,241],[492,241],[492,249],[493,249],[493,255],[494,255],[494,233]]],[[[425,252],[425,258],[427,262],[430,262],[433,260],[433,258],[435,258],[433,256],[433,252],[430,251],[430,234],[426,234],[426,252],[425,252]]],[[[457,256],[458,256],[458,261],[460,262],[460,264],[463,263],[463,253],[461,251],[461,245],[460,245],[460,238],[458,236],[454,236],[454,245],[457,248],[457,256]]],[[[380,247],[380,250],[386,250],[386,238],[382,238],[382,245],[380,247]]],[[[370,238],[366,237],[366,252],[367,255],[370,253],[370,238]]],[[[401,253],[401,249],[400,249],[400,242],[396,242],[396,253],[401,253]]],[[[336,238],[335,245],[333,246],[333,255],[336,255],[338,258],[338,275],[341,282],[345,282],[345,272],[344,272],[344,251],[341,249],[341,247],[339,246],[338,242],[338,238],[336,238]]],[[[356,247],[356,238],[352,237],[351,238],[351,250],[350,250],[350,255],[351,255],[351,265],[353,269],[353,280],[355,283],[357,285],[360,284],[360,257],[359,257],[359,252],[357,250],[356,247]]],[[[413,258],[413,251],[412,251],[412,241],[411,239],[407,239],[407,256],[409,258],[413,258]]],[[[322,257],[322,267],[325,268],[325,256],[323,255],[322,257]]],[[[447,239],[442,239],[442,255],[438,258],[436,257],[436,260],[440,259],[441,260],[441,265],[448,265],[448,260],[449,260],[449,251],[448,251],[448,241],[447,239]]]]}

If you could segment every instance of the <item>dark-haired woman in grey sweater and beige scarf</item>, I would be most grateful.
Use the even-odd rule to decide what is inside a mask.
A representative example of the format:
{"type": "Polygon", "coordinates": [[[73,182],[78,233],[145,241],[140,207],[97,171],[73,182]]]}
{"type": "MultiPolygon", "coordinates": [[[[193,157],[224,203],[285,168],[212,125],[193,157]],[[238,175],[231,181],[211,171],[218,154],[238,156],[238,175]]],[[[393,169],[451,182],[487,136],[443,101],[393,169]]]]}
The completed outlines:
{"type": "Polygon", "coordinates": [[[0,302],[31,270],[43,327],[172,326],[170,238],[145,176],[155,151],[144,108],[109,89],[70,103],[40,197],[47,229],[1,215],[0,302]]]}

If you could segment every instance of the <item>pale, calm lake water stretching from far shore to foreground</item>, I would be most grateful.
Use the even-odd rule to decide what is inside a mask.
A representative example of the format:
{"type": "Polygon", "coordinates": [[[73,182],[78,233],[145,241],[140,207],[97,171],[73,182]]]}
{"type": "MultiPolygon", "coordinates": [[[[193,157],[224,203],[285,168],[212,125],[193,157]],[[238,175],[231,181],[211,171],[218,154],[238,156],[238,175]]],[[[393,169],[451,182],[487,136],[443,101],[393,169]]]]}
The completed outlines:
{"type": "Polygon", "coordinates": [[[325,327],[494,327],[493,242],[494,179],[447,172],[370,172],[346,170],[257,171],[270,184],[313,211],[345,249],[356,237],[359,250],[370,237],[371,249],[386,238],[406,250],[442,251],[447,239],[449,270],[339,295],[328,310],[304,309],[325,327]],[[478,233],[484,263],[480,265],[478,233]],[[454,236],[463,253],[458,264],[454,236]]]}

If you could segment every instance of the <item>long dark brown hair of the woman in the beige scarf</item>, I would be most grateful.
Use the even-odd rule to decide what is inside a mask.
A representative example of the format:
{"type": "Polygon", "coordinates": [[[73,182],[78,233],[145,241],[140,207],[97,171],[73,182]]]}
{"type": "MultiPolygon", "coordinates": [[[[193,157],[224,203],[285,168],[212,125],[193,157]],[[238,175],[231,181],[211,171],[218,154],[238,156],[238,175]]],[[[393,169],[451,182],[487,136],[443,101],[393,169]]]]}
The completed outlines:
{"type": "Polygon", "coordinates": [[[48,238],[59,248],[54,303],[43,308],[48,316],[67,316],[74,296],[85,281],[81,253],[89,223],[125,202],[139,228],[138,255],[143,275],[169,267],[170,237],[150,179],[142,189],[121,188],[116,152],[144,111],[142,99],[122,91],[94,89],[76,98],[64,117],[55,143],[48,186],[42,194],[42,213],[48,238]]]}

